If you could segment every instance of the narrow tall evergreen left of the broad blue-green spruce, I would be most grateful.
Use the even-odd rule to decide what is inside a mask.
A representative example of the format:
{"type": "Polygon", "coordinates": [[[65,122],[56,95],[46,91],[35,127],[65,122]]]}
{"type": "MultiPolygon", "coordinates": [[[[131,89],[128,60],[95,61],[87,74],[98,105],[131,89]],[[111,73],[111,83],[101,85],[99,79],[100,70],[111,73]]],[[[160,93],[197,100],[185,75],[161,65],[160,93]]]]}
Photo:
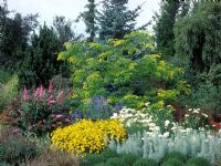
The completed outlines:
{"type": "MultiPolygon", "coordinates": [[[[81,13],[78,19],[83,19],[86,25],[86,33],[90,34],[87,41],[93,42],[97,32],[97,22],[96,22],[96,4],[95,0],[87,0],[88,3],[85,6],[86,11],[81,13]]],[[[77,19],[77,21],[78,21],[77,19]]]]}

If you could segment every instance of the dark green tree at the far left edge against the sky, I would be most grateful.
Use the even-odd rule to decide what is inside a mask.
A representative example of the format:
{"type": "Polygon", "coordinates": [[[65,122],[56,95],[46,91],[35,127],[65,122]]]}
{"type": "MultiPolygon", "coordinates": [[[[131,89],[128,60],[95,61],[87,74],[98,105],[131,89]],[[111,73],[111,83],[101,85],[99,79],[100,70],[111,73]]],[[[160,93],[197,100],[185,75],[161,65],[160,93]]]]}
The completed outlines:
{"type": "Polygon", "coordinates": [[[38,27],[38,14],[22,17],[15,13],[11,18],[9,13],[11,12],[8,11],[4,1],[0,13],[0,52],[3,56],[1,64],[15,69],[23,59],[31,32],[38,27]]]}

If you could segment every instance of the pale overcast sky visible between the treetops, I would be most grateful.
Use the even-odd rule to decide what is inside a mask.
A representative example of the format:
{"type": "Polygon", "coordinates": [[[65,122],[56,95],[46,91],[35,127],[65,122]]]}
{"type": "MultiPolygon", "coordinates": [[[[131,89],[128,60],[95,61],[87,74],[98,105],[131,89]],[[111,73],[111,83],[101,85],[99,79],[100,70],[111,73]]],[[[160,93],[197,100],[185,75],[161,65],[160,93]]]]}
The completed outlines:
{"type": "MultiPolygon", "coordinates": [[[[3,0],[0,0],[2,2],[3,0]]],[[[97,0],[99,1],[99,0],[97,0]]],[[[141,25],[152,19],[155,11],[159,10],[160,0],[129,0],[129,9],[144,3],[143,12],[137,19],[137,25],[141,25]]],[[[44,21],[51,25],[54,15],[64,15],[66,19],[74,20],[80,12],[83,12],[87,0],[8,0],[8,8],[22,14],[39,13],[40,23],[44,21]]],[[[149,28],[151,29],[151,28],[149,28]]],[[[84,23],[75,25],[75,32],[84,33],[84,23]]]]}

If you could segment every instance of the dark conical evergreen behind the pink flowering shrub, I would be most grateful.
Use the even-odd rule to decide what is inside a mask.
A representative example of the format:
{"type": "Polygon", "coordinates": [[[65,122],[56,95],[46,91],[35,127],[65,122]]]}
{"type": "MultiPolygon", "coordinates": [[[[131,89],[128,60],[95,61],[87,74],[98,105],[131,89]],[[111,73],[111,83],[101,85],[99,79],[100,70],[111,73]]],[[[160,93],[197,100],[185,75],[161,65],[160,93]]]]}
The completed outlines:
{"type": "Polygon", "coordinates": [[[32,34],[31,45],[25,51],[21,65],[20,84],[27,86],[48,85],[49,80],[60,71],[56,61],[57,37],[52,28],[40,27],[39,34],[32,34]]]}

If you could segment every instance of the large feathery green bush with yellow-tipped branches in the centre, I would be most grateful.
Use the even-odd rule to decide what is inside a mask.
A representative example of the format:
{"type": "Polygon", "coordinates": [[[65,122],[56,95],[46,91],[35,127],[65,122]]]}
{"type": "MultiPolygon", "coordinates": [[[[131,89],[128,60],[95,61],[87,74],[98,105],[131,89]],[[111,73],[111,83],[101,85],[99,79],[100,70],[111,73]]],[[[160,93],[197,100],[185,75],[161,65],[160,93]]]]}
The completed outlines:
{"type": "Polygon", "coordinates": [[[131,32],[122,40],[110,39],[107,44],[85,41],[66,43],[66,51],[57,60],[73,68],[75,107],[85,110],[94,96],[104,96],[109,104],[123,103],[143,107],[146,101],[171,102],[188,93],[187,83],[180,79],[180,68],[161,60],[154,51],[151,37],[131,32]]]}

